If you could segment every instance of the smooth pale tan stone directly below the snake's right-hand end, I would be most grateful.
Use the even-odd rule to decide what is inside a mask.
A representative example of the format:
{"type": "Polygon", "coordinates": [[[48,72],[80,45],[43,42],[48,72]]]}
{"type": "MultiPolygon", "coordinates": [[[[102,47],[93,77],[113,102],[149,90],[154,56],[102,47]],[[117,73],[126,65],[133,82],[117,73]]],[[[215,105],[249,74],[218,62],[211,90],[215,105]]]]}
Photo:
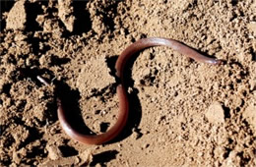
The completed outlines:
{"type": "Polygon", "coordinates": [[[214,102],[208,108],[206,117],[213,124],[224,123],[224,108],[220,102],[214,102]]]}

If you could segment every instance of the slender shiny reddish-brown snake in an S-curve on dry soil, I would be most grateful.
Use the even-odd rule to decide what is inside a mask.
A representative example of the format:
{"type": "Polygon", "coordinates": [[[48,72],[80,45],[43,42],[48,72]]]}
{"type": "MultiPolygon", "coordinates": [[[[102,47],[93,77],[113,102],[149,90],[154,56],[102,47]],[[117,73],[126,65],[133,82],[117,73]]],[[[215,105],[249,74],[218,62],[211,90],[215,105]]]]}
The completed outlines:
{"type": "MultiPolygon", "coordinates": [[[[118,57],[115,64],[116,76],[120,78],[121,83],[117,86],[117,95],[119,99],[119,114],[114,126],[112,126],[106,133],[99,134],[99,135],[90,136],[90,135],[80,134],[69,124],[62,102],[60,98],[57,98],[58,118],[62,126],[62,129],[65,131],[65,133],[71,139],[75,139],[86,144],[101,144],[111,139],[114,139],[123,130],[124,126],[126,125],[126,122],[128,119],[128,113],[129,113],[129,101],[127,98],[126,89],[123,85],[124,84],[123,72],[124,72],[126,63],[131,58],[131,56],[134,55],[136,52],[143,50],[147,47],[159,46],[159,45],[170,47],[173,50],[178,51],[179,53],[184,54],[198,62],[207,63],[211,65],[222,64],[221,60],[206,57],[198,53],[194,49],[174,39],[161,38],[161,37],[151,37],[151,38],[140,39],[135,43],[131,44],[130,46],[128,46],[118,57]]],[[[41,83],[44,83],[46,85],[49,84],[45,82],[41,77],[37,77],[37,79],[41,83]]]]}

